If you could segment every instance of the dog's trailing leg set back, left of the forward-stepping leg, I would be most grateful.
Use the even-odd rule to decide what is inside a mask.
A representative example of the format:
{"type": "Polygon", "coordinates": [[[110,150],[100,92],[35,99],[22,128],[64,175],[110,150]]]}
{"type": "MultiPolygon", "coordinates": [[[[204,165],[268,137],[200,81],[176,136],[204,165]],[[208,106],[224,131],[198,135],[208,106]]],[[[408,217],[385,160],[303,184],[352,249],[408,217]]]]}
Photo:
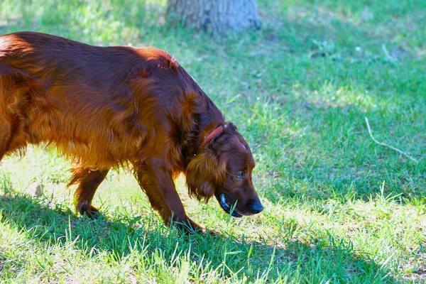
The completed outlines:
{"type": "Polygon", "coordinates": [[[97,208],[92,206],[94,192],[107,176],[108,170],[89,170],[88,168],[72,169],[73,176],[69,185],[78,183],[74,194],[75,209],[81,215],[86,214],[90,218],[97,216],[97,208]]]}

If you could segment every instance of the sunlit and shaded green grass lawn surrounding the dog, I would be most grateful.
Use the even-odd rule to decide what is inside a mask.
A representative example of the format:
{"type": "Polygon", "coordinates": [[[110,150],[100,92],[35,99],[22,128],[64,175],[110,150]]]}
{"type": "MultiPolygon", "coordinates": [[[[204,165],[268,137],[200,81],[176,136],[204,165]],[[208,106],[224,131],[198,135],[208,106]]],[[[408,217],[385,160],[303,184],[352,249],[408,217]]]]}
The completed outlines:
{"type": "Polygon", "coordinates": [[[258,11],[261,31],[211,40],[165,26],[165,0],[1,1],[1,34],[173,54],[251,145],[265,206],[234,219],[190,200],[180,178],[190,217],[224,234],[180,236],[121,170],[95,195],[102,216],[81,218],[70,163],[29,147],[0,164],[1,283],[426,281],[426,1],[258,0],[258,11]],[[418,162],[374,143],[365,117],[418,162]],[[34,181],[40,197],[25,193],[34,181]]]}

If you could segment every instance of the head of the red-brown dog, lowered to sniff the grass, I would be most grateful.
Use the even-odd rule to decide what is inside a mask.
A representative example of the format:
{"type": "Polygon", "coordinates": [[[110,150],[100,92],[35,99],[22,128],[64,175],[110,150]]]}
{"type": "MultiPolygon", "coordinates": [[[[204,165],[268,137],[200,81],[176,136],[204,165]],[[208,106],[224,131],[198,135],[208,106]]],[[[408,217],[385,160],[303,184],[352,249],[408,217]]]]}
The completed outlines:
{"type": "Polygon", "coordinates": [[[187,168],[187,187],[198,200],[213,195],[225,212],[241,217],[263,210],[251,181],[255,166],[249,145],[234,124],[207,138],[187,168]]]}

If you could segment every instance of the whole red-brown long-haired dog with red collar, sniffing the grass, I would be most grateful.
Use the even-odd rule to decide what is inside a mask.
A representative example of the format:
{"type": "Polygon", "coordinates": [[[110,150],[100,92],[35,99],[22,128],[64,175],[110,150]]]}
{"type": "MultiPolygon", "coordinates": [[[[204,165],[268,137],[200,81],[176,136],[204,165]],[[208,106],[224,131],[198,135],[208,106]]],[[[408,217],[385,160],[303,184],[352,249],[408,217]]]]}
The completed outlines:
{"type": "Polygon", "coordinates": [[[75,163],[80,214],[111,168],[130,166],[165,224],[201,231],[173,178],[234,217],[261,212],[254,160],[234,124],[156,48],[98,47],[43,33],[0,36],[0,160],[48,143],[75,163]]]}

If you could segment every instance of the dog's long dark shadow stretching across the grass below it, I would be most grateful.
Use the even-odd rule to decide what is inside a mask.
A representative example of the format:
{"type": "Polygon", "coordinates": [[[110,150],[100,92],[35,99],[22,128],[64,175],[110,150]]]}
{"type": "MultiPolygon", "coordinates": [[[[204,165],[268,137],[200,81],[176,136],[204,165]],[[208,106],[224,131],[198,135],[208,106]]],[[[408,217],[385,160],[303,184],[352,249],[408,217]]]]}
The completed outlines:
{"type": "Polygon", "coordinates": [[[131,253],[150,256],[160,253],[171,266],[178,266],[175,261],[178,256],[197,265],[202,261],[210,270],[221,271],[225,279],[241,280],[244,274],[249,282],[258,278],[347,282],[354,274],[361,279],[375,275],[376,280],[395,281],[386,268],[342,244],[315,246],[284,239],[280,246],[273,246],[246,240],[244,236],[187,236],[158,224],[144,224],[143,217],[111,220],[101,216],[92,220],[77,217],[70,209],[58,206],[43,198],[6,193],[0,195],[0,219],[33,239],[40,248],[71,243],[89,258],[95,258],[98,253],[111,253],[117,263],[125,261],[131,253]],[[315,269],[322,269],[322,273],[315,269]],[[327,278],[324,278],[327,269],[329,273],[325,273],[327,278]],[[351,275],[347,273],[349,270],[351,275]]]}

